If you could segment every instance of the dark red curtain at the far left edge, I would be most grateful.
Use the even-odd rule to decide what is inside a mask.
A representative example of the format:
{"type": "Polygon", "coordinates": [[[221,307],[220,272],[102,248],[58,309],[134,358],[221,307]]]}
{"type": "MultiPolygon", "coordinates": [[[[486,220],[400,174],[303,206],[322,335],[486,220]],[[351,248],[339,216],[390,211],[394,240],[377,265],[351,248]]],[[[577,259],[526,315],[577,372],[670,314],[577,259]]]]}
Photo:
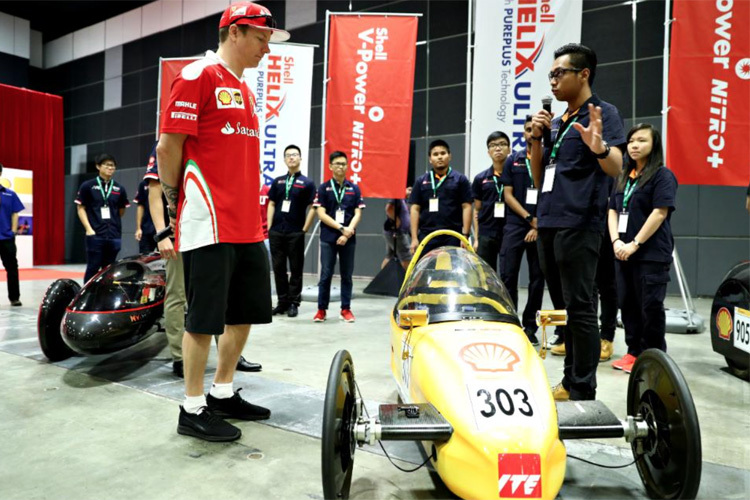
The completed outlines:
{"type": "Polygon", "coordinates": [[[34,264],[65,260],[62,97],[0,85],[0,163],[34,173],[34,264]]]}

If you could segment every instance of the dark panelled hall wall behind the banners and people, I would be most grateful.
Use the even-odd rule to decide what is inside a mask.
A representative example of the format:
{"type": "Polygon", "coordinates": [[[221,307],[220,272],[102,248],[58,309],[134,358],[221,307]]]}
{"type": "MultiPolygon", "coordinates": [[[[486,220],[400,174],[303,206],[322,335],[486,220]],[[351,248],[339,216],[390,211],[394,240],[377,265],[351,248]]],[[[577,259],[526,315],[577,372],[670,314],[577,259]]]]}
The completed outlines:
{"type": "MultiPolygon", "coordinates": [[[[0,40],[0,83],[63,97],[67,262],[85,260],[84,233],[73,199],[78,185],[96,172],[93,158],[102,152],[117,158],[115,178],[125,185],[130,199],[145,173],[147,155],[155,139],[159,57],[195,56],[217,45],[220,13],[229,2],[204,2],[200,12],[195,11],[196,3],[153,2],[135,9],[133,12],[139,11],[137,15],[125,13],[99,23],[101,26],[80,30],[78,36],[45,40],[43,50],[39,48],[41,37],[34,33],[30,37],[37,43],[20,50],[8,50],[0,40]],[[175,4],[180,4],[181,10],[175,4]]],[[[320,179],[326,10],[346,12],[350,5],[353,11],[422,14],[417,35],[411,151],[404,152],[410,156],[409,181],[427,168],[427,145],[436,138],[448,141],[453,168],[465,171],[468,1],[261,3],[271,9],[280,26],[291,32],[291,42],[319,46],[313,66],[311,149],[309,157],[303,159],[316,183],[320,179]]],[[[626,129],[639,122],[661,129],[664,8],[661,0],[583,1],[580,39],[599,58],[594,91],[619,108],[626,129]]],[[[8,25],[7,18],[12,19],[11,25],[20,26],[17,29],[28,30],[23,20],[0,14],[3,26],[8,25]]],[[[489,132],[474,131],[482,136],[489,132]]],[[[472,159],[480,163],[485,160],[472,159]]],[[[750,255],[745,189],[680,186],[678,190],[672,228],[693,294],[713,295],[732,264],[750,255]]],[[[379,270],[385,252],[384,206],[385,200],[367,200],[358,228],[357,276],[374,276],[379,270]]],[[[134,230],[135,209],[131,208],[123,224],[121,255],[137,252],[134,230]]],[[[306,257],[305,272],[317,273],[317,261],[317,245],[313,244],[306,257]]],[[[525,282],[525,274],[522,280],[525,282]]],[[[314,281],[308,278],[306,284],[314,281]]],[[[670,293],[679,293],[674,277],[670,293]]]]}

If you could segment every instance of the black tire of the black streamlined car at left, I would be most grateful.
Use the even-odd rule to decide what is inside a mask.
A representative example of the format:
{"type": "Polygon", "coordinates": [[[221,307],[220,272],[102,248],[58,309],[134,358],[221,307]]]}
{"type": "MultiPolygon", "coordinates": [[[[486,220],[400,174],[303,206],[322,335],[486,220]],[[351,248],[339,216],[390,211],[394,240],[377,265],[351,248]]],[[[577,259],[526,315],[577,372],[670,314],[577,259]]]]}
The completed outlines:
{"type": "Polygon", "coordinates": [[[60,334],[65,309],[81,290],[81,285],[73,280],[62,279],[53,282],[44,294],[39,306],[36,330],[42,353],[50,361],[62,361],[76,353],[63,341],[60,334]]]}

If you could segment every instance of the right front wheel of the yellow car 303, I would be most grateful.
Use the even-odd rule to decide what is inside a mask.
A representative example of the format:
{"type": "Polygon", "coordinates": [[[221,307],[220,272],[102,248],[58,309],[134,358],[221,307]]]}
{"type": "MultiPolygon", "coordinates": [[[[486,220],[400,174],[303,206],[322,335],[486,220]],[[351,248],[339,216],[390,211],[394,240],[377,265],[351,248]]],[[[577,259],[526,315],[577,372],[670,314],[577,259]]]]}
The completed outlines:
{"type": "Polygon", "coordinates": [[[649,435],[632,443],[648,495],[695,498],[702,466],[698,414],[685,377],[665,352],[649,349],[638,356],[628,381],[628,415],[649,424],[649,435]]]}

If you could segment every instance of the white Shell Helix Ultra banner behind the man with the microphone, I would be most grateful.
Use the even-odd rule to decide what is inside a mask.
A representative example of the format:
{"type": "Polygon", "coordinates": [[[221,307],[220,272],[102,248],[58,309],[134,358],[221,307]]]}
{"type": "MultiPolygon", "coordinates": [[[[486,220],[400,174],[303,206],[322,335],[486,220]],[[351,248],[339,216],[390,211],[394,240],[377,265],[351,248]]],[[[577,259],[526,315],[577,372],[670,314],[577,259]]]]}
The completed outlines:
{"type": "MultiPolygon", "coordinates": [[[[581,40],[582,0],[476,0],[471,165],[473,178],[491,164],[487,136],[495,130],[525,147],[523,122],[550,92],[553,53],[581,40]]],[[[565,111],[553,99],[552,111],[565,111]]]]}

